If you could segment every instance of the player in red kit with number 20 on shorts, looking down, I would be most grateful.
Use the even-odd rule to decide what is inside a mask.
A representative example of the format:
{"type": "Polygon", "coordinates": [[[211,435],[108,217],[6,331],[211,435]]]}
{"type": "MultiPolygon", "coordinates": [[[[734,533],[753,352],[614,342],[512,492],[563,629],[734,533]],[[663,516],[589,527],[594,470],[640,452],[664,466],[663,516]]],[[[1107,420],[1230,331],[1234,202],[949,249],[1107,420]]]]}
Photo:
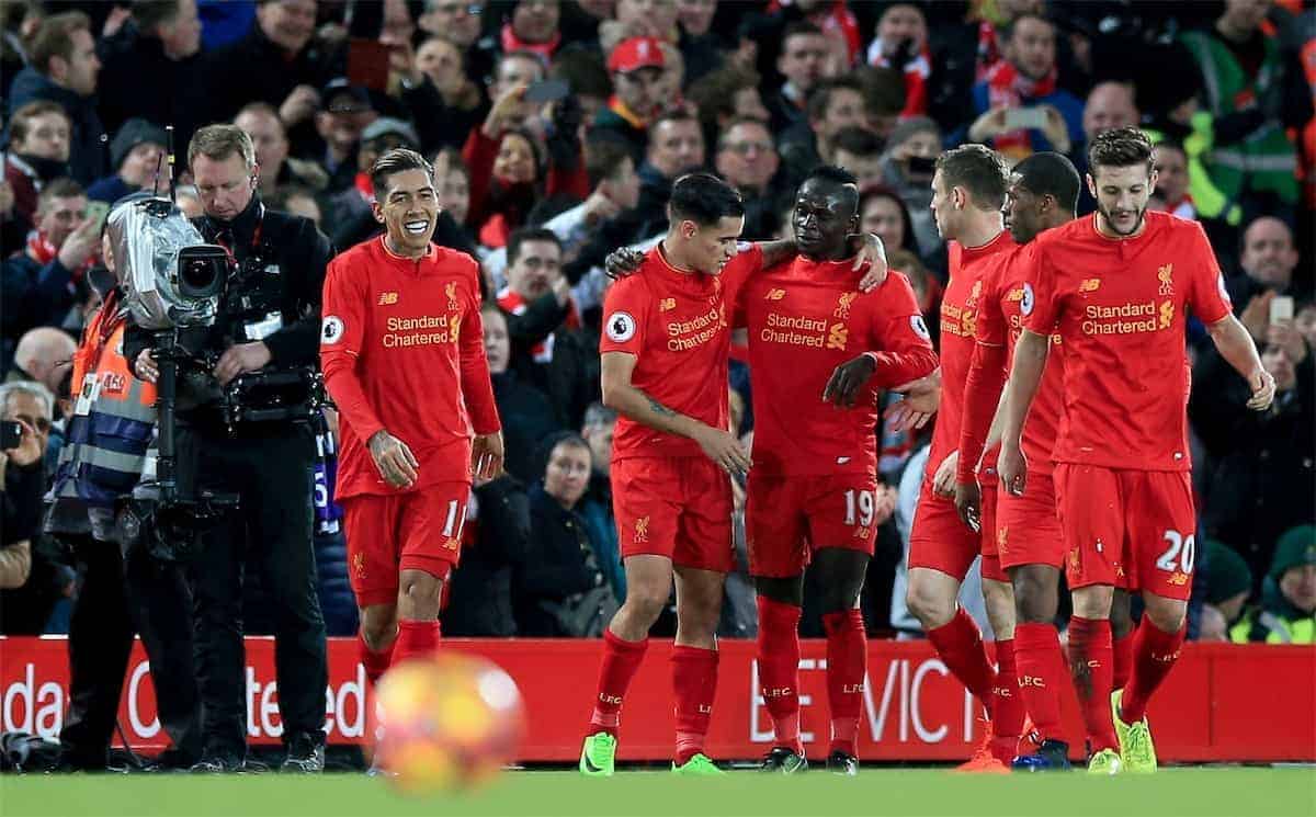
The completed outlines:
{"type": "Polygon", "coordinates": [[[1065,349],[1065,412],[1053,458],[1061,532],[1074,596],[1070,668],[1095,774],[1155,771],[1148,700],[1183,646],[1196,558],[1190,484],[1186,310],[1207,325],[1221,357],[1266,409],[1274,379],[1233,317],[1202,226],[1148,212],[1155,188],[1146,134],[1119,128],[1088,146],[1098,210],[1048,230],[1030,247],[1034,300],[1023,312],[998,460],[1005,491],[1025,495],[1024,420],[1046,363],[1048,338],[1065,349]],[[1112,692],[1111,599],[1140,589],[1133,671],[1112,692]]]}

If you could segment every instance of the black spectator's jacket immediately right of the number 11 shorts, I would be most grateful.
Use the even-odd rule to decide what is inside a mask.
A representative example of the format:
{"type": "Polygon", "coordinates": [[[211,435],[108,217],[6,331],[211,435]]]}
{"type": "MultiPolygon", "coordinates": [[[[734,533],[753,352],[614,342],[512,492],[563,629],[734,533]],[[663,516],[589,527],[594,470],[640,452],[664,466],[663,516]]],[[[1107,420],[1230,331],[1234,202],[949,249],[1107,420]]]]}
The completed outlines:
{"type": "Polygon", "coordinates": [[[517,634],[512,575],[525,559],[530,509],[525,488],[509,476],[475,488],[475,501],[478,533],[447,583],[443,634],[508,638],[517,634]]]}

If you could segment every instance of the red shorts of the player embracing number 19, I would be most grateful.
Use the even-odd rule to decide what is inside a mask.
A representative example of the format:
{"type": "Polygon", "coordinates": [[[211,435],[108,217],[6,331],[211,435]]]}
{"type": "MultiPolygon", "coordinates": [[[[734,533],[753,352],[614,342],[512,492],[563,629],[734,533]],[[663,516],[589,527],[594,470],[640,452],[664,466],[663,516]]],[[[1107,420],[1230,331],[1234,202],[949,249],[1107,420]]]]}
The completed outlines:
{"type": "Polygon", "coordinates": [[[736,564],[730,476],[711,459],[613,460],[612,512],[622,559],[649,554],[724,574],[736,564]]]}

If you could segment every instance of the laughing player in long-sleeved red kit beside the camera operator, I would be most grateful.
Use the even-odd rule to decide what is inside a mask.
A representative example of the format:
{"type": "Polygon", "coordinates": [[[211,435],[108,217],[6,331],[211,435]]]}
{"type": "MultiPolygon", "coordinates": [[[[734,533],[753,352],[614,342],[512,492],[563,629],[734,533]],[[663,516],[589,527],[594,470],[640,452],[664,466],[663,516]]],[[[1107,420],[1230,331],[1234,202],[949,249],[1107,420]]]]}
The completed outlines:
{"type": "Polygon", "coordinates": [[[320,362],[340,412],[337,497],[371,680],[438,647],[474,475],[503,466],[479,266],[430,243],[434,172],[399,149],[371,168],[386,234],[329,264],[320,362]]]}

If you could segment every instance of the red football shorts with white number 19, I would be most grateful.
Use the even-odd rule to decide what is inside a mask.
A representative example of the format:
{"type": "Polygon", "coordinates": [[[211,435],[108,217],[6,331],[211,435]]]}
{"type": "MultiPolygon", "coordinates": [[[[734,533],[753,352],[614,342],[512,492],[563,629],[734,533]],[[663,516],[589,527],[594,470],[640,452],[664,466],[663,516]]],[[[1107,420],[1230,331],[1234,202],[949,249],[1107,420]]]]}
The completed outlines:
{"type": "Polygon", "coordinates": [[[799,576],[822,547],[873,555],[878,537],[871,474],[771,476],[750,471],[745,507],[749,572],[799,576]]]}

